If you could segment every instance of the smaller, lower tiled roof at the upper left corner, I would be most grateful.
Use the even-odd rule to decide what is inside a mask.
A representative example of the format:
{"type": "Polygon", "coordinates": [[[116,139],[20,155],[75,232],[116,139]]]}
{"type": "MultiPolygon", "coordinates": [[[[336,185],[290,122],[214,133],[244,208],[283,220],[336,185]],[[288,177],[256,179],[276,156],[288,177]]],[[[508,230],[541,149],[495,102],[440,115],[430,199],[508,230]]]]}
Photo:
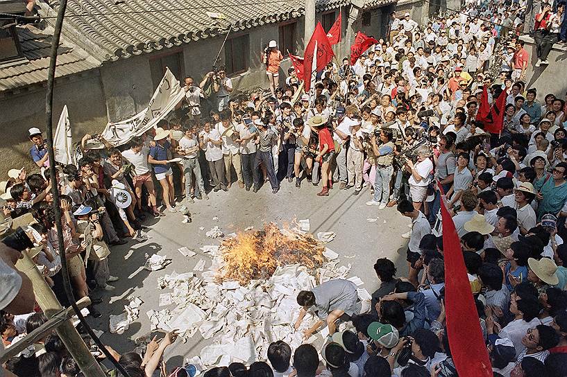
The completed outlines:
{"type": "MultiPolygon", "coordinates": [[[[18,26],[16,30],[22,45],[22,53],[27,60],[6,67],[0,66],[0,91],[16,89],[47,80],[52,35],[30,25],[18,26]]],[[[84,51],[71,47],[70,44],[60,43],[56,78],[99,66],[100,63],[84,51]]]]}

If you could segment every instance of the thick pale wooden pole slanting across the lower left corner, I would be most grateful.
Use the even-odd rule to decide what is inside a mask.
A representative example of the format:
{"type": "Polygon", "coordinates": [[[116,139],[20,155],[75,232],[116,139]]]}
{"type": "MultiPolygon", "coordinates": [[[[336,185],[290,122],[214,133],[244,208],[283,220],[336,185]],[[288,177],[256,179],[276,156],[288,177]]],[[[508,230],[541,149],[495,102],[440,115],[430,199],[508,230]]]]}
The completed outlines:
{"type": "MultiPolygon", "coordinates": [[[[28,256],[28,252],[24,250],[22,256],[23,258],[17,261],[16,268],[24,272],[31,280],[37,304],[40,305],[46,317],[51,318],[53,315],[56,315],[56,313],[60,312],[62,309],[61,304],[53,293],[53,290],[51,290],[45,282],[40,271],[35,267],[35,263],[33,263],[28,256]]],[[[63,258],[65,258],[65,256],[63,256],[63,258]]],[[[83,338],[73,326],[71,319],[67,319],[60,324],[60,326],[56,328],[56,331],[85,377],[105,377],[101,366],[90,353],[83,338]]]]}

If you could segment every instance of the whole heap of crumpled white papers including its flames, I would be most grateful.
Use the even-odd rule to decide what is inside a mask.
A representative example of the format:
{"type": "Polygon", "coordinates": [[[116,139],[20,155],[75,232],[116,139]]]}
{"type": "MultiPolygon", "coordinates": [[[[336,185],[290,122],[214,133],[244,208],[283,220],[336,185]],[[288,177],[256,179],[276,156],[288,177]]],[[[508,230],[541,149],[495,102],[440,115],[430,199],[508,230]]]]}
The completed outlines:
{"type": "MultiPolygon", "coordinates": [[[[350,264],[339,265],[339,255],[325,249],[312,234],[280,230],[273,224],[223,240],[221,247],[201,249],[212,258],[208,270],[199,272],[200,277],[193,272],[173,272],[158,278],[158,286],[168,290],[160,295],[164,308],[146,315],[152,330],[178,329],[184,340],[197,332],[212,339],[200,358],[195,357],[195,362],[208,367],[266,360],[269,344],[276,340],[287,342],[291,349],[299,347],[304,342],[303,331],[315,319],[307,315],[301,327],[294,329],[300,310],[298,292],[330,279],[346,279],[350,272],[350,264]]],[[[199,261],[194,270],[201,264],[199,261]]],[[[350,280],[362,285],[357,277],[350,280]]],[[[358,291],[369,307],[369,292],[358,291]]],[[[325,337],[324,333],[323,329],[320,335],[325,337]]],[[[305,342],[317,339],[319,334],[305,342]]]]}

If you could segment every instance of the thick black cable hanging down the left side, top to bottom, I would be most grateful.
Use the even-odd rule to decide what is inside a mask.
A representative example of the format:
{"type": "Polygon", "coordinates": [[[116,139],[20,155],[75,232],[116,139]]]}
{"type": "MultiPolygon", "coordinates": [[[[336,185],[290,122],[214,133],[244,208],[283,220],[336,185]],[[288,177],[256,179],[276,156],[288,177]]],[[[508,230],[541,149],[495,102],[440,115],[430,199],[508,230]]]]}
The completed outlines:
{"type": "Polygon", "coordinates": [[[63,16],[65,15],[65,9],[67,8],[67,0],[60,0],[60,6],[57,13],[55,30],[53,30],[53,38],[51,39],[51,57],[49,61],[49,71],[47,72],[47,93],[45,96],[45,117],[46,117],[46,136],[47,136],[47,152],[49,154],[49,173],[51,175],[51,193],[53,194],[53,211],[55,212],[55,225],[57,230],[57,238],[58,238],[58,247],[61,254],[61,273],[63,277],[63,288],[65,288],[65,295],[67,296],[67,300],[71,304],[71,307],[75,310],[75,314],[77,315],[79,322],[83,325],[83,328],[89,333],[90,337],[94,341],[94,343],[99,347],[99,349],[104,353],[106,358],[112,362],[113,365],[118,369],[118,371],[124,377],[130,377],[128,372],[124,370],[118,360],[116,360],[110,351],[106,349],[105,345],[99,337],[96,336],[92,328],[90,328],[89,324],[85,320],[85,317],[79,310],[75,297],[73,295],[73,288],[71,288],[71,281],[69,279],[69,270],[67,270],[67,258],[65,258],[65,245],[63,243],[63,229],[61,224],[61,209],[59,207],[59,189],[58,189],[58,182],[57,182],[57,174],[55,168],[55,151],[53,150],[53,84],[55,82],[55,70],[56,70],[56,63],[57,63],[57,50],[59,46],[59,40],[61,36],[61,28],[63,25],[63,16]]]}

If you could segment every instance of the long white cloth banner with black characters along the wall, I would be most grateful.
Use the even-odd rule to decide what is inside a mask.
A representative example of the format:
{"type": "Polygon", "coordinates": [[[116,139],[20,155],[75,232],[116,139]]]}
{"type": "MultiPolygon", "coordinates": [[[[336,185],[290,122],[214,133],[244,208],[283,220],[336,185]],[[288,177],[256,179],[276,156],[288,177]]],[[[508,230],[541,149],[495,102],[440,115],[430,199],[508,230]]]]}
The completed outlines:
{"type": "Polygon", "coordinates": [[[141,136],[150,128],[157,127],[159,121],[164,119],[171,110],[185,96],[185,91],[179,85],[179,81],[173,73],[166,69],[160,85],[155,89],[153,96],[142,112],[130,119],[112,123],[109,122],[101,136],[113,146],[121,146],[128,143],[133,137],[141,136]]]}

